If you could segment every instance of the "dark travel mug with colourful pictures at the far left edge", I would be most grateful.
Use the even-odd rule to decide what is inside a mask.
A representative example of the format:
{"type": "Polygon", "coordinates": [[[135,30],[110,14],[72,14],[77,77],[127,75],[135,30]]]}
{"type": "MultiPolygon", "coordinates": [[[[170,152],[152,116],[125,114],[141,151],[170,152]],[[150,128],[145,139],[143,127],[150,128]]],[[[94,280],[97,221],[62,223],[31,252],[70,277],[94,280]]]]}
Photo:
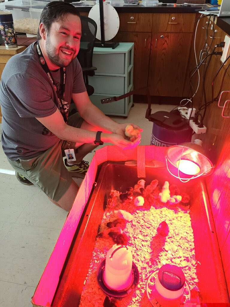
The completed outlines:
{"type": "Polygon", "coordinates": [[[17,38],[13,27],[13,16],[9,12],[0,12],[0,30],[6,48],[17,47],[17,38]]]}

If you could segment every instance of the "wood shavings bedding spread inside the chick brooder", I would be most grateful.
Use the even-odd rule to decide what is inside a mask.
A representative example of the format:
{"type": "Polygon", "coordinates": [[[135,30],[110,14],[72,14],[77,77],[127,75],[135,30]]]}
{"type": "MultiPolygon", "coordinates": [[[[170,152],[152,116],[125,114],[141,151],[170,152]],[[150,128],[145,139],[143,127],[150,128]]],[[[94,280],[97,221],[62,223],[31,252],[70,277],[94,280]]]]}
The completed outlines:
{"type": "MultiPolygon", "coordinates": [[[[128,246],[132,250],[133,261],[140,275],[136,289],[120,300],[120,306],[151,306],[146,293],[146,282],[151,273],[166,263],[180,266],[190,289],[198,293],[197,261],[189,207],[162,203],[159,197],[151,198],[151,204],[146,200],[144,206],[136,207],[134,200],[121,203],[119,194],[119,191],[111,191],[100,225],[100,232],[107,230],[108,222],[117,219],[118,210],[125,210],[132,214],[133,219],[127,222],[123,232],[129,238],[128,246]],[[169,227],[166,237],[157,233],[157,228],[163,221],[169,227]]],[[[113,244],[110,237],[106,239],[97,237],[81,295],[80,307],[103,306],[106,295],[98,285],[97,269],[113,244]]],[[[159,307],[159,304],[156,302],[154,306],[159,307]]]]}

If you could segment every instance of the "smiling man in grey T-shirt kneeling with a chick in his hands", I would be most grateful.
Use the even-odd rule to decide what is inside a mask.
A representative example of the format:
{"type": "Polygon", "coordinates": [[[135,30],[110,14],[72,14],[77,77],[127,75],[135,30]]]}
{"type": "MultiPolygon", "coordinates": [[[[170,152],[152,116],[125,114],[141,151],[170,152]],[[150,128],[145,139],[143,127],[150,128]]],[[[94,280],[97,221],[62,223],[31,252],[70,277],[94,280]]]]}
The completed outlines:
{"type": "Polygon", "coordinates": [[[87,153],[103,142],[121,149],[140,143],[140,134],[132,142],[125,137],[129,123],[114,122],[90,102],[76,58],[79,16],[67,2],[48,3],[38,41],[10,58],[0,86],[2,148],[17,179],[68,211],[79,189],[72,176],[86,174],[87,153]],[[71,99],[78,112],[68,117],[71,99]]]}

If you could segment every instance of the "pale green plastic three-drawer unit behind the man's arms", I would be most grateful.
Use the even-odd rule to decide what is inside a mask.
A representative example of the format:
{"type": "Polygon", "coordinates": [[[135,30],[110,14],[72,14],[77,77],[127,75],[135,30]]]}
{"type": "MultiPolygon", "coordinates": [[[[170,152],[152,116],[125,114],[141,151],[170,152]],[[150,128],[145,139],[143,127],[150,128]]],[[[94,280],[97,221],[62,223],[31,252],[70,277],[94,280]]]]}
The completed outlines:
{"type": "Polygon", "coordinates": [[[106,115],[128,116],[132,96],[117,102],[102,104],[101,99],[121,96],[133,88],[134,43],[120,43],[117,48],[94,47],[93,65],[97,67],[89,84],[94,87],[90,100],[106,115]]]}

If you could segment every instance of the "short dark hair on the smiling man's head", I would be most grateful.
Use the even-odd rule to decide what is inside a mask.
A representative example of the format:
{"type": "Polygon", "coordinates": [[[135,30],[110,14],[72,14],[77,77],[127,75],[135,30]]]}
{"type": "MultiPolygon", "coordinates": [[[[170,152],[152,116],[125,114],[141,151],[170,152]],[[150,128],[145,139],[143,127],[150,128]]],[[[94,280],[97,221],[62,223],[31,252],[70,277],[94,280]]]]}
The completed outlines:
{"type": "MultiPolygon", "coordinates": [[[[66,14],[73,14],[80,17],[79,11],[75,8],[75,6],[73,6],[68,2],[63,2],[63,1],[49,2],[41,12],[39,25],[42,22],[45,26],[46,31],[49,32],[52,23],[58,21],[59,19],[63,20],[63,17],[66,14]]],[[[40,38],[41,36],[38,29],[37,39],[40,38]]]]}

